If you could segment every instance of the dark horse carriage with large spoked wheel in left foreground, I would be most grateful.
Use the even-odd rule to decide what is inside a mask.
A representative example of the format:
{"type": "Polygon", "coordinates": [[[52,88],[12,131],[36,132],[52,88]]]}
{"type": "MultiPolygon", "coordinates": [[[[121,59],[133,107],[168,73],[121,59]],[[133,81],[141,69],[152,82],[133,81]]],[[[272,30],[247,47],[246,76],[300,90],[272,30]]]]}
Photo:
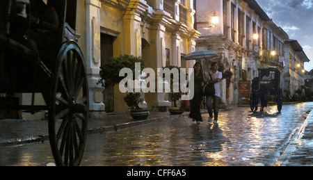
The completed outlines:
{"type": "Polygon", "coordinates": [[[30,106],[0,109],[48,111],[56,165],[79,165],[87,138],[88,82],[76,13],[76,0],[0,1],[0,93],[32,95],[30,106]],[[34,105],[35,93],[46,106],[34,105]]]}

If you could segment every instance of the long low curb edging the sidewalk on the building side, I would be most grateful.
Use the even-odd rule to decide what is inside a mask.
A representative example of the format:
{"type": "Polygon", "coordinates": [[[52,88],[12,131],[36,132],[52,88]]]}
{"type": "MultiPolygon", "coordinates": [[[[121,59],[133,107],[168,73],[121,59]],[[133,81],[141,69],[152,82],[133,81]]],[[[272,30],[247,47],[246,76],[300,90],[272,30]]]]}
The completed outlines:
{"type": "MultiPolygon", "coordinates": [[[[232,108],[226,108],[226,109],[220,109],[220,111],[230,111],[232,108]]],[[[201,114],[207,114],[207,110],[202,110],[201,114]]],[[[147,120],[139,120],[139,121],[133,121],[133,122],[126,122],[121,124],[114,124],[111,126],[99,126],[95,128],[88,129],[88,136],[93,134],[102,134],[106,132],[112,132],[112,131],[120,131],[122,129],[127,129],[135,126],[142,126],[145,124],[150,124],[154,122],[160,122],[160,121],[166,121],[166,120],[174,120],[179,117],[188,117],[189,112],[185,112],[181,115],[170,115],[167,117],[154,117],[147,120]]],[[[13,145],[23,145],[27,143],[33,143],[33,142],[45,142],[49,141],[49,135],[46,134],[44,136],[38,136],[38,137],[31,137],[26,139],[17,139],[17,140],[8,140],[6,142],[0,142],[0,147],[6,147],[6,146],[13,146],[13,145]]]]}

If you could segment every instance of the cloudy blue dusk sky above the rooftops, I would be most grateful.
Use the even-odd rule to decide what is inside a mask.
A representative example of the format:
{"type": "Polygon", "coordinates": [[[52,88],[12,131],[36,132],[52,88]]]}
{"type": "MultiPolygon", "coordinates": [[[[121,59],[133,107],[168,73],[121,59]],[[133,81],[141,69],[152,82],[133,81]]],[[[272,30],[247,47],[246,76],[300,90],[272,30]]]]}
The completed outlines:
{"type": "Polygon", "coordinates": [[[298,40],[310,59],[305,69],[313,68],[313,0],[257,0],[273,22],[298,40]]]}

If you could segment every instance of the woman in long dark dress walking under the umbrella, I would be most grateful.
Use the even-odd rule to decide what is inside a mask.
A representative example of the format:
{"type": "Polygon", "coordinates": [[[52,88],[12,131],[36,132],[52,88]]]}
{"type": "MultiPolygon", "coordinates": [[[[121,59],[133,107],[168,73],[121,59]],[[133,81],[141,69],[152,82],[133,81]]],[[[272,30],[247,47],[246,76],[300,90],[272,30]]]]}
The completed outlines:
{"type": "Polygon", "coordinates": [[[193,75],[194,75],[194,95],[193,99],[190,100],[191,112],[189,118],[193,119],[197,124],[202,122],[202,116],[200,113],[200,104],[202,99],[202,85],[207,82],[207,77],[204,76],[201,63],[195,63],[193,65],[193,75]]]}

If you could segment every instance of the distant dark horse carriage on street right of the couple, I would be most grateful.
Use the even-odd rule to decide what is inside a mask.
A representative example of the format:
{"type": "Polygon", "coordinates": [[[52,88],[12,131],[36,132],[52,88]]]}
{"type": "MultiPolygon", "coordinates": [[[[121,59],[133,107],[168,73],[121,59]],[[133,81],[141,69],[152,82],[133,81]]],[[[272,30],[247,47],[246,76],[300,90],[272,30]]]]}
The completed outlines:
{"type": "Polygon", "coordinates": [[[257,111],[259,101],[261,101],[261,110],[267,107],[268,97],[275,97],[278,112],[282,110],[282,89],[280,88],[280,67],[269,65],[259,65],[259,77],[252,80],[250,94],[251,111],[257,111]]]}

